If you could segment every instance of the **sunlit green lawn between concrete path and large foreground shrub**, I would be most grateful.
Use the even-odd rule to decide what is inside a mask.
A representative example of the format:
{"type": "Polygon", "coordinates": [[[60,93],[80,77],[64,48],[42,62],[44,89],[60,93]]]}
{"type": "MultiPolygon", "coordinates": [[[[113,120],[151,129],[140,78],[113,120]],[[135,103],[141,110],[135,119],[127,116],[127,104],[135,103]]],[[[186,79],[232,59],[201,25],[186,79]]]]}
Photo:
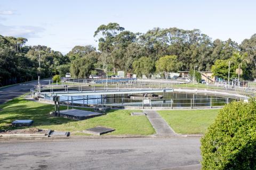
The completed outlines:
{"type": "Polygon", "coordinates": [[[219,109],[158,111],[176,133],[204,134],[219,109]]]}

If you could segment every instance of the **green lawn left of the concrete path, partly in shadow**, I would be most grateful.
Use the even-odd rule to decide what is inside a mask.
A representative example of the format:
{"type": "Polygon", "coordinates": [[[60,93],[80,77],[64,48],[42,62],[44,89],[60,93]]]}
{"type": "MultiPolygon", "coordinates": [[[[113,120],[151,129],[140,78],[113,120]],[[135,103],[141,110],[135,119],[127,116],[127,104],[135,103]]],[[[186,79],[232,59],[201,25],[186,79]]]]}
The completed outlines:
{"type": "MultiPolygon", "coordinates": [[[[116,129],[109,134],[133,134],[149,135],[155,130],[151,126],[146,116],[131,116],[133,111],[111,110],[106,115],[93,117],[83,121],[74,121],[62,117],[49,115],[54,111],[54,106],[49,104],[28,101],[23,98],[16,98],[6,104],[0,105],[0,130],[13,129],[7,126],[14,120],[31,119],[34,120],[33,127],[39,129],[52,129],[58,131],[69,131],[71,134],[83,134],[83,131],[95,126],[107,126],[116,129]]],[[[67,109],[61,106],[60,109],[67,109]]],[[[77,108],[81,109],[81,108],[77,108]]]]}

